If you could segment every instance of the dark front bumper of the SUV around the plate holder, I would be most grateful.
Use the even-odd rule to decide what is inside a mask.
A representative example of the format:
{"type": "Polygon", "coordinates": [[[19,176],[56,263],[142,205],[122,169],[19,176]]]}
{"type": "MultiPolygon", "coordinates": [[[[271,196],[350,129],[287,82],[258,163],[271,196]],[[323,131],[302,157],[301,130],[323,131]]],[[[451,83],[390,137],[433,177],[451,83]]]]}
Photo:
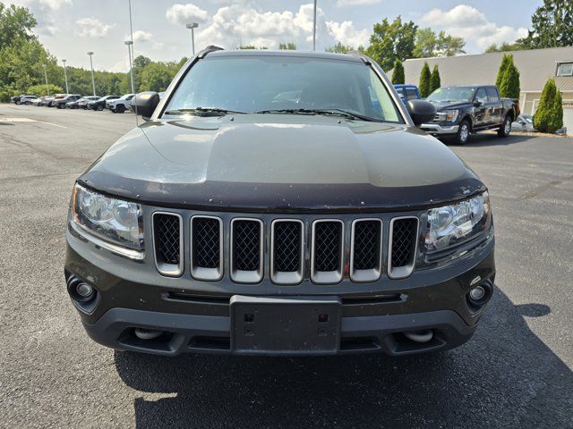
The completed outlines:
{"type": "MultiPolygon", "coordinates": [[[[81,322],[90,337],[113,349],[160,355],[183,352],[244,353],[232,345],[231,302],[236,296],[339,299],[340,330],[336,350],[256,354],[312,355],[385,352],[405,355],[451,349],[466,342],[483,314],[468,306],[466,295],[475,278],[493,282],[494,240],[489,240],[449,264],[418,270],[403,280],[382,277],[379,282],[353,283],[345,276],[338,285],[310,281],[278,287],[195,282],[166,278],[147,270],[147,264],[117,257],[67,233],[66,280],[74,276],[98,290],[89,311],[76,301],[81,322]],[[166,332],[141,341],[135,329],[166,332]],[[405,341],[403,332],[432,330],[432,341],[405,341]]],[[[248,354],[248,353],[246,353],[248,354]]]]}

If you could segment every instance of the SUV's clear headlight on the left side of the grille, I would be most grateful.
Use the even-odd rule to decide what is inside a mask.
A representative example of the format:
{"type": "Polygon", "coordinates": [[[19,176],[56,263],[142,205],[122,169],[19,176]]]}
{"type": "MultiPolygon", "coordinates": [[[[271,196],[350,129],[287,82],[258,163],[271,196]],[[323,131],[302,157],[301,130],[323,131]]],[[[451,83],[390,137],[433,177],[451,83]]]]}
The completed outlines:
{"type": "Polygon", "coordinates": [[[98,237],[126,248],[143,249],[141,206],[75,185],[73,221],[98,237]]]}

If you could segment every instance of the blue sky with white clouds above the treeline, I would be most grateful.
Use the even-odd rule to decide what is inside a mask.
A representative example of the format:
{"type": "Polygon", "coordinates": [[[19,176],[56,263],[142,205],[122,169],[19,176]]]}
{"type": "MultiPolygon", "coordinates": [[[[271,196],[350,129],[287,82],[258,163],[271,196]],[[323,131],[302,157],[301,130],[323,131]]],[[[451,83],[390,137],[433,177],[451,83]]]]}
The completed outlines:
{"type": "MultiPolygon", "coordinates": [[[[124,40],[129,38],[128,0],[2,0],[29,7],[38,20],[35,32],[58,60],[89,68],[128,71],[124,40]]],[[[480,54],[492,43],[526,36],[541,0],[318,0],[317,50],[340,41],[367,46],[372,26],[398,15],[420,27],[444,29],[466,40],[467,54],[480,54]]],[[[195,48],[240,45],[278,48],[294,42],[312,49],[312,1],[132,0],[134,54],[152,60],[178,61],[195,48]]]]}

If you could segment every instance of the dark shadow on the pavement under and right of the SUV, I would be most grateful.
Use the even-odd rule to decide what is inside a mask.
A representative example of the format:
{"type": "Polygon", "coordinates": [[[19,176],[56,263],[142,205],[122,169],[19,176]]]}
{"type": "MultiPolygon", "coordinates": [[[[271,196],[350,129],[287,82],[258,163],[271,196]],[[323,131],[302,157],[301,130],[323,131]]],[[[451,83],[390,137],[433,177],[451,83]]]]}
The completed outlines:
{"type": "Polygon", "coordinates": [[[137,427],[571,427],[573,374],[496,290],[472,340],[415,357],[155,357],[115,352],[137,427]]]}

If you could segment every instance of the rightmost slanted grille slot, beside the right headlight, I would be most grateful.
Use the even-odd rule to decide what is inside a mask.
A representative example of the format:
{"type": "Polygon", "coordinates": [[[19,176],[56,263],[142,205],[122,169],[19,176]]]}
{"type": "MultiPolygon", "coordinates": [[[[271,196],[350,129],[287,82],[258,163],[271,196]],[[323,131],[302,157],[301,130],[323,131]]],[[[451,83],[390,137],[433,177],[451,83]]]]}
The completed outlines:
{"type": "Polygon", "coordinates": [[[417,217],[397,217],[390,221],[389,277],[404,278],[414,270],[418,229],[417,217]]]}

